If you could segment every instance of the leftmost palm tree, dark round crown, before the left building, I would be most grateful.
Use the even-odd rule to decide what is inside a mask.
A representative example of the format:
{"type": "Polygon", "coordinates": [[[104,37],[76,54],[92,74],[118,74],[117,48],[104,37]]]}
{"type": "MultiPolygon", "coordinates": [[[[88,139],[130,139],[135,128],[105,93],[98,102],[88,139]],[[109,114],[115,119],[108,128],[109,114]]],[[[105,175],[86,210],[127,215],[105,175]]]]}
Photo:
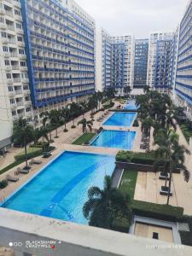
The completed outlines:
{"type": "Polygon", "coordinates": [[[26,158],[26,169],[28,169],[28,160],[27,160],[27,148],[26,145],[33,139],[33,127],[32,125],[28,125],[26,122],[26,119],[19,119],[14,124],[13,129],[13,137],[12,140],[15,143],[15,141],[19,141],[21,145],[25,148],[25,158],[26,158]]]}

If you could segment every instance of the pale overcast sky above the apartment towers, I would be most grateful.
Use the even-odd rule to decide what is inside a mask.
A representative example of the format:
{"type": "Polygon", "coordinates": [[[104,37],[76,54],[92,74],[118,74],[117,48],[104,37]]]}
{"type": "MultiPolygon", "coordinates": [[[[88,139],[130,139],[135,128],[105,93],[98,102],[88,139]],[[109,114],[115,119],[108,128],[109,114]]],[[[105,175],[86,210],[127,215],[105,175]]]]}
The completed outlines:
{"type": "Polygon", "coordinates": [[[189,0],[76,0],[112,35],[172,32],[183,17],[189,0]]]}

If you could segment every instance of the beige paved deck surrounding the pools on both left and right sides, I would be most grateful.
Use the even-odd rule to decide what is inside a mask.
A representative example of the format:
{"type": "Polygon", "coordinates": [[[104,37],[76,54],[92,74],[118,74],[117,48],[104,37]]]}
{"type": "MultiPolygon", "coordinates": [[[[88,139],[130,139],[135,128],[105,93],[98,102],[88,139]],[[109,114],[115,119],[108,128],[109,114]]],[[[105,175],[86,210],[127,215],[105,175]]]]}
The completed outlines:
{"type": "MultiPolygon", "coordinates": [[[[113,113],[111,113],[113,114],[113,113]]],[[[95,119],[101,116],[102,113],[96,113],[95,119]]],[[[86,113],[84,115],[86,119],[90,119],[90,113],[86,113]]],[[[109,115],[105,117],[108,119],[109,115]]],[[[82,117],[79,117],[82,119],[82,117]]],[[[75,123],[79,121],[79,119],[75,119],[75,123]]],[[[103,120],[104,122],[104,120],[103,120]]],[[[82,151],[82,152],[90,152],[96,154],[117,154],[119,152],[118,148],[98,148],[93,146],[81,146],[81,145],[73,145],[73,141],[75,138],[79,137],[82,134],[81,126],[70,129],[69,127],[72,125],[72,122],[67,124],[67,128],[69,131],[67,133],[63,132],[63,127],[58,129],[59,138],[55,138],[55,143],[52,143],[55,146],[55,151],[52,153],[52,156],[49,159],[43,159],[41,156],[35,158],[36,160],[41,160],[41,165],[33,165],[32,169],[28,174],[20,174],[20,180],[17,183],[10,183],[5,189],[1,189],[0,201],[4,201],[9,195],[11,195],[15,189],[20,188],[23,183],[26,183],[35,173],[41,170],[46,164],[49,163],[50,160],[53,160],[56,155],[61,154],[64,150],[72,150],[72,151],[82,151]]],[[[102,122],[94,121],[93,129],[99,129],[101,127],[102,122]]],[[[144,152],[144,150],[140,149],[141,143],[141,124],[139,127],[117,127],[117,126],[105,126],[104,129],[107,130],[117,130],[117,131],[137,131],[137,136],[135,138],[135,143],[132,148],[132,151],[140,151],[144,152]]],[[[151,131],[151,134],[153,131],[151,131]]],[[[183,133],[180,128],[177,126],[177,133],[179,135],[179,141],[181,144],[187,146],[189,148],[188,143],[183,137],[183,133]]],[[[52,135],[55,135],[55,132],[52,132],[52,135]]],[[[152,136],[151,136],[152,137],[152,136]]],[[[153,139],[150,141],[150,148],[154,149],[153,139]]],[[[11,148],[10,153],[6,155],[5,158],[0,159],[1,169],[4,166],[8,166],[11,162],[14,161],[14,154],[18,154],[21,148],[11,148]]],[[[8,172],[5,172],[0,175],[0,180],[6,177],[6,175],[14,176],[15,170],[17,167],[23,167],[25,164],[22,163],[20,166],[16,166],[15,168],[10,169],[8,172]]],[[[186,156],[186,166],[189,168],[191,172],[191,177],[189,183],[184,182],[183,174],[173,174],[173,183],[172,183],[172,192],[173,195],[170,199],[170,204],[173,206],[179,206],[184,208],[184,213],[188,215],[192,215],[192,205],[189,203],[192,201],[192,157],[191,154],[186,156]]],[[[137,175],[137,185],[135,190],[134,198],[140,201],[149,201],[154,203],[165,204],[166,196],[160,195],[160,186],[164,184],[163,181],[159,180],[159,174],[153,172],[139,172],[137,175]]]]}

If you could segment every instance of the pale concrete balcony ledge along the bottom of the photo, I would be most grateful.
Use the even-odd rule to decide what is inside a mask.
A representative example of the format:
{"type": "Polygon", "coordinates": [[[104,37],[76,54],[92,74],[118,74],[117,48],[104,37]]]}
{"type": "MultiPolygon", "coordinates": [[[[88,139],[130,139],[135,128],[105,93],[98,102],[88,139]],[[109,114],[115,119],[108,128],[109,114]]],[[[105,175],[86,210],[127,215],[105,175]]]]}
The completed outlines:
{"type": "Polygon", "coordinates": [[[22,252],[37,256],[192,255],[191,247],[176,250],[171,243],[0,208],[0,245],[9,247],[9,242],[20,256],[22,252]],[[32,242],[41,245],[48,241],[55,249],[30,247],[32,242]]]}

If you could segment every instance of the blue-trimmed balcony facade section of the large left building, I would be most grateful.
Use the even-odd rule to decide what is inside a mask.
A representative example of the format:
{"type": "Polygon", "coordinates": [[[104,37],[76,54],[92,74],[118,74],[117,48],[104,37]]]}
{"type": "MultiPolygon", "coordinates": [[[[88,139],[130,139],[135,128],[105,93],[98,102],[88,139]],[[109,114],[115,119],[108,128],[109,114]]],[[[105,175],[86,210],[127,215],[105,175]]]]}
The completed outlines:
{"type": "Polygon", "coordinates": [[[95,91],[95,23],[56,0],[23,0],[21,12],[32,104],[85,99],[95,91]]]}

